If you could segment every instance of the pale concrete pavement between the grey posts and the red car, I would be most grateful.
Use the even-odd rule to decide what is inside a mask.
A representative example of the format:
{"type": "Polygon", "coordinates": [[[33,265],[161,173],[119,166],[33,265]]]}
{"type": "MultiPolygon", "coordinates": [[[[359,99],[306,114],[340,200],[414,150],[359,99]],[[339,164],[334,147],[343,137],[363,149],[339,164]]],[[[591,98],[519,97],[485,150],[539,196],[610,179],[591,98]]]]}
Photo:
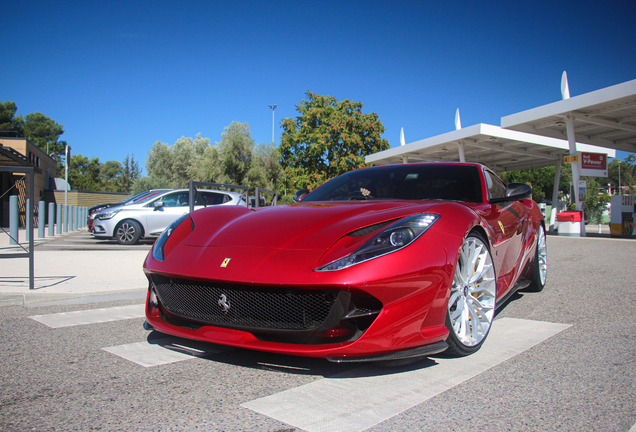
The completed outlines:
{"type": "MultiPolygon", "coordinates": [[[[29,259],[3,258],[3,254],[24,253],[9,245],[9,236],[0,231],[0,306],[26,305],[79,297],[114,296],[144,298],[148,281],[142,265],[148,251],[39,251],[38,244],[66,234],[38,239],[34,237],[34,288],[29,289],[29,259]]],[[[37,236],[37,230],[35,231],[37,236]]],[[[20,244],[28,248],[25,231],[20,244]]]]}

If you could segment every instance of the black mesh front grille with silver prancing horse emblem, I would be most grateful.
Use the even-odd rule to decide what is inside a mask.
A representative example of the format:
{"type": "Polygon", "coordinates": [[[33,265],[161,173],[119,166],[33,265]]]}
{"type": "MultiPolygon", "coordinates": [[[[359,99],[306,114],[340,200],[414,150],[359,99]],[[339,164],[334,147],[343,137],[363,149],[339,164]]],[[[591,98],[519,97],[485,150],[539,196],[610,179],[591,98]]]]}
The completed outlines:
{"type": "Polygon", "coordinates": [[[239,329],[312,331],[329,328],[343,317],[351,298],[348,292],[337,289],[252,287],[171,279],[156,274],[151,279],[162,306],[170,314],[239,329]]]}

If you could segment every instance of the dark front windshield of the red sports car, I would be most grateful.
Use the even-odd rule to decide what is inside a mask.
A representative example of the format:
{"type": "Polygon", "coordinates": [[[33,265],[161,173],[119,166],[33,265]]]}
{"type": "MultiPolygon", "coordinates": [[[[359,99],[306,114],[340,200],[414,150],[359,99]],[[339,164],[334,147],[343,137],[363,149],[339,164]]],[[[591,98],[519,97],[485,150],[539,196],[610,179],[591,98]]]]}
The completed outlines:
{"type": "Polygon", "coordinates": [[[371,199],[482,202],[479,168],[404,164],[351,171],[320,186],[302,202],[371,199]]]}

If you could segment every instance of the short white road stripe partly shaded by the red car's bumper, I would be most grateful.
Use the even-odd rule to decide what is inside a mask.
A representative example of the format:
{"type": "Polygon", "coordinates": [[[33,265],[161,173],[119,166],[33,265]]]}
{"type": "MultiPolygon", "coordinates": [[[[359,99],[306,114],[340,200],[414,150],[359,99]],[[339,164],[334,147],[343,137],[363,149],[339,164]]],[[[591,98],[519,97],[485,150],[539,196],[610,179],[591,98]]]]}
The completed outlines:
{"type": "Polygon", "coordinates": [[[177,338],[155,339],[102,348],[143,367],[153,367],[228,351],[214,345],[177,338]]]}

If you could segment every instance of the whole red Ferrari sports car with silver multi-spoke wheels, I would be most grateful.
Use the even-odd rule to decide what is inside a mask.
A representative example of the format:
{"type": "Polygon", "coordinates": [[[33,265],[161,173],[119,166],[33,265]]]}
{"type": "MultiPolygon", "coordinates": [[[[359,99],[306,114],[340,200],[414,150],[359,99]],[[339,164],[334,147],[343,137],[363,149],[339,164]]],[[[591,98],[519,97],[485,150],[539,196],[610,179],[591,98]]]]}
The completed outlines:
{"type": "Polygon", "coordinates": [[[507,297],[546,283],[531,194],[479,164],[422,163],[351,171],[294,204],[197,210],[146,258],[145,326],[336,362],[471,354],[507,297]]]}

